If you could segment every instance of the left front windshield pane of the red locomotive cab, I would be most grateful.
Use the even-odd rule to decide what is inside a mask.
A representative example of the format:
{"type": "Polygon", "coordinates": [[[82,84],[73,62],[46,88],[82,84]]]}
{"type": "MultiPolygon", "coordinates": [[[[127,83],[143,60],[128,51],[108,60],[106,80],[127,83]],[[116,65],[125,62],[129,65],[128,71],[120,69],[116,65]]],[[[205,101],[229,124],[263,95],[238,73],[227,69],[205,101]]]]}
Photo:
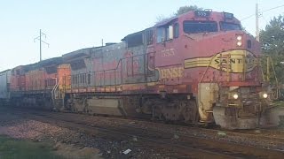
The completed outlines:
{"type": "Polygon", "coordinates": [[[217,32],[216,21],[192,21],[184,22],[184,32],[187,34],[196,34],[204,32],[217,32]]]}

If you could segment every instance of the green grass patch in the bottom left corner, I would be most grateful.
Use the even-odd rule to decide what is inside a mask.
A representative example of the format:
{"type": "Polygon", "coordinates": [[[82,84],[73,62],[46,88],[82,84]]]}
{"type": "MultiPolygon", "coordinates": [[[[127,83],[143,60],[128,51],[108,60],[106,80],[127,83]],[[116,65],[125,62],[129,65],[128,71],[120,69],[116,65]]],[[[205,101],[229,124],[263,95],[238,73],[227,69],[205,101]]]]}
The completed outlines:
{"type": "Polygon", "coordinates": [[[29,140],[15,140],[0,136],[1,159],[61,159],[55,155],[50,144],[29,140]]]}

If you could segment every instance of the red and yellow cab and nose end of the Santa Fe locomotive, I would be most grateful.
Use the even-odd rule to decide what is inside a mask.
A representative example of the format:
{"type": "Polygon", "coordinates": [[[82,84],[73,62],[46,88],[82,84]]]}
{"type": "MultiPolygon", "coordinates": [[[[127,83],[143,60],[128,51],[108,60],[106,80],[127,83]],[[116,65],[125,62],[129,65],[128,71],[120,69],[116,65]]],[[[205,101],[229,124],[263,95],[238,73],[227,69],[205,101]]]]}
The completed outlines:
{"type": "Polygon", "coordinates": [[[201,123],[229,129],[277,125],[268,119],[260,43],[232,13],[190,11],[155,28],[158,83],[176,86],[161,92],[191,96],[201,123]]]}

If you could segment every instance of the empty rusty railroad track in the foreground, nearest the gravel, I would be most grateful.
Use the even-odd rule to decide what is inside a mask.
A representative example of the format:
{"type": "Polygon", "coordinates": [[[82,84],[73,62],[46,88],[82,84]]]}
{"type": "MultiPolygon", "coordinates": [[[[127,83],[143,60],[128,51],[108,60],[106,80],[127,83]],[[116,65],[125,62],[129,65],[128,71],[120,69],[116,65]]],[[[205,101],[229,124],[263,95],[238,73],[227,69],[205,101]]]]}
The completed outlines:
{"type": "MultiPolygon", "coordinates": [[[[14,111],[15,112],[15,111],[14,111]]],[[[18,115],[43,122],[77,129],[93,135],[100,132],[105,137],[114,139],[135,138],[154,148],[175,149],[179,155],[210,158],[283,158],[283,152],[266,148],[256,148],[223,140],[204,139],[198,136],[172,133],[162,130],[139,127],[138,125],[120,125],[118,122],[104,122],[102,119],[93,122],[88,116],[44,111],[15,112],[18,115]]],[[[98,119],[98,118],[97,118],[98,119]]],[[[133,120],[124,119],[126,122],[133,120]]],[[[169,126],[169,125],[168,125],[169,126]]]]}

